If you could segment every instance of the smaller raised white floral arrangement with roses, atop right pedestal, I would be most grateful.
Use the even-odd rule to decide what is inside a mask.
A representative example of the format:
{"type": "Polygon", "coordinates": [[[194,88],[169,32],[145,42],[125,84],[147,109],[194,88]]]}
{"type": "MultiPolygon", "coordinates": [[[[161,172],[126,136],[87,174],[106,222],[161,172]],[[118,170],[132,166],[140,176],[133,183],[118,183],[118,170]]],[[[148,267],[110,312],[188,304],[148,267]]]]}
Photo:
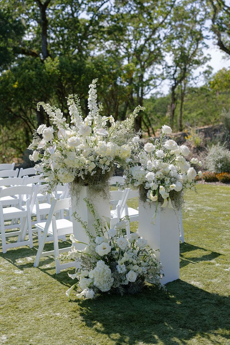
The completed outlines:
{"type": "Polygon", "coordinates": [[[197,158],[187,161],[190,153],[186,145],[179,146],[176,141],[167,139],[172,133],[169,126],[162,126],[159,138],[144,144],[139,137],[133,138],[136,145],[136,158],[129,160],[124,171],[125,186],[139,188],[142,201],[149,203],[162,202],[161,207],[173,208],[172,200],[179,201],[181,206],[182,192],[185,189],[195,190],[196,176],[202,176],[194,165],[202,166],[197,158]]]}

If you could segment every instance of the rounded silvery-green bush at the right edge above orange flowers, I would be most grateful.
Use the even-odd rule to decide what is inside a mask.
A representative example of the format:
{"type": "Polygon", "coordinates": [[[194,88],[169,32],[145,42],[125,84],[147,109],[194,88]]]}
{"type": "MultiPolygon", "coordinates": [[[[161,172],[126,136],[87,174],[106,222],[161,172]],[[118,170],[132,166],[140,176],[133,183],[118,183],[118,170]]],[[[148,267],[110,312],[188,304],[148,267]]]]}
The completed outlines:
{"type": "Polygon", "coordinates": [[[206,157],[206,168],[211,172],[229,172],[230,151],[220,143],[213,145],[206,157]]]}

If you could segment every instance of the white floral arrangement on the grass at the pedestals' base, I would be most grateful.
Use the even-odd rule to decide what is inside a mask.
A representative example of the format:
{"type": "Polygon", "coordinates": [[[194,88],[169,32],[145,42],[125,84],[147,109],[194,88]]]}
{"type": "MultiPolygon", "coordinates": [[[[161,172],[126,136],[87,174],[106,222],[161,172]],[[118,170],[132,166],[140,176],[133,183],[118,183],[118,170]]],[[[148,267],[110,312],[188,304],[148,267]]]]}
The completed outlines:
{"type": "Polygon", "coordinates": [[[132,233],[126,239],[127,220],[121,219],[114,228],[109,228],[109,223],[102,221],[95,213],[88,199],[84,199],[87,207],[95,218],[96,236],[93,236],[86,222],[76,216],[76,219],[85,229],[89,243],[84,250],[75,249],[75,244],[82,243],[70,235],[72,251],[60,255],[60,259],[75,259],[80,263],[80,268],[75,274],[68,275],[77,279],[66,295],[77,286],[77,298],[93,298],[98,293],[116,291],[123,295],[124,292],[136,293],[143,287],[144,281],[164,288],[160,283],[163,266],[157,260],[155,251],[151,249],[147,240],[138,233],[132,233]]]}

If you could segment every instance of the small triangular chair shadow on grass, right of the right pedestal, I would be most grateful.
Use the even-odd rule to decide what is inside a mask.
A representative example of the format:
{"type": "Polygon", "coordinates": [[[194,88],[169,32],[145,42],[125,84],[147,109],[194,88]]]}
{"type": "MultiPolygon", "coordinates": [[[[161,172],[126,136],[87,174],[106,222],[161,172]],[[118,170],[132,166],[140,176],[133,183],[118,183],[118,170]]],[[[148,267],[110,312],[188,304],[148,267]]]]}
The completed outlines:
{"type": "Polygon", "coordinates": [[[180,243],[180,268],[187,266],[190,263],[197,263],[201,261],[210,261],[220,256],[220,253],[212,252],[208,249],[193,246],[189,243],[180,243]],[[194,252],[189,255],[189,252],[194,252]],[[197,251],[195,253],[195,251],[197,251]],[[193,254],[193,255],[192,255],[193,254]]]}

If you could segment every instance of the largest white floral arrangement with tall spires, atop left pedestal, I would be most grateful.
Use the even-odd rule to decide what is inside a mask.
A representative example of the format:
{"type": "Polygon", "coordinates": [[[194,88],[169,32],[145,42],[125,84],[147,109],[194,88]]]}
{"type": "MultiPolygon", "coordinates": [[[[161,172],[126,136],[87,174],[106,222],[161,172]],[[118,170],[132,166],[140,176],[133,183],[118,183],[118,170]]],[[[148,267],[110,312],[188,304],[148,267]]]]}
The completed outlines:
{"type": "Polygon", "coordinates": [[[138,106],[125,121],[101,116],[103,107],[97,103],[96,82],[94,79],[89,85],[89,114],[85,119],[77,95],[67,99],[70,124],[60,109],[44,102],[37,105],[38,110],[43,107],[53,125],[40,125],[34,132],[30,159],[40,161],[35,168],[46,177],[50,192],[58,184],[74,180],[83,185],[103,183],[114,166],[124,166],[131,156],[134,118],[144,108],[138,106]]]}

